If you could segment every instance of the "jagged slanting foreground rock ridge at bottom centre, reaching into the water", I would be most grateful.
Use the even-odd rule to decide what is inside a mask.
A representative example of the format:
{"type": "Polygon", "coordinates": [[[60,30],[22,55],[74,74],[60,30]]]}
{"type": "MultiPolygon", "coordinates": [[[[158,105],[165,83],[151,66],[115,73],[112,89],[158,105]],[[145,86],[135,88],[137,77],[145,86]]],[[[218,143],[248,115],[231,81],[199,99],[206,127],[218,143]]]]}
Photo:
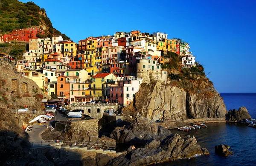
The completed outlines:
{"type": "Polygon", "coordinates": [[[125,157],[116,157],[110,160],[108,165],[112,166],[139,166],[148,165],[166,160],[177,160],[180,158],[191,158],[203,155],[201,147],[197,145],[195,137],[188,135],[181,139],[180,135],[169,135],[161,141],[157,148],[146,145],[143,148],[130,149],[125,157]]]}

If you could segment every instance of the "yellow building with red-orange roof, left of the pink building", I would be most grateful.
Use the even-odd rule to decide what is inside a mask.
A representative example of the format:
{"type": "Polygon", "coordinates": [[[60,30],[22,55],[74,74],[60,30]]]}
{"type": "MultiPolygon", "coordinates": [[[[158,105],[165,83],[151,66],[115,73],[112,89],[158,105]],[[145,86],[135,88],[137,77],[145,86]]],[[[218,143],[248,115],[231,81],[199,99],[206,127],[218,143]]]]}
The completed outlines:
{"type": "Polygon", "coordinates": [[[91,89],[94,100],[110,98],[110,85],[115,83],[116,76],[113,73],[98,73],[93,76],[91,89]]]}

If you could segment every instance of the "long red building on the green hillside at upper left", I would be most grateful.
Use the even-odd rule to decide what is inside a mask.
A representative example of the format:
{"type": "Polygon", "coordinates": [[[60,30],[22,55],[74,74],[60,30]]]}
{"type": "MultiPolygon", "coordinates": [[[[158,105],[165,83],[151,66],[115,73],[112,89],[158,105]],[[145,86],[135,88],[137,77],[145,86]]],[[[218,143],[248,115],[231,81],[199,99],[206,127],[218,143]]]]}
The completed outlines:
{"type": "Polygon", "coordinates": [[[9,41],[26,41],[29,42],[29,39],[37,39],[36,34],[44,35],[44,31],[39,28],[22,28],[13,30],[12,33],[9,33],[9,41]]]}

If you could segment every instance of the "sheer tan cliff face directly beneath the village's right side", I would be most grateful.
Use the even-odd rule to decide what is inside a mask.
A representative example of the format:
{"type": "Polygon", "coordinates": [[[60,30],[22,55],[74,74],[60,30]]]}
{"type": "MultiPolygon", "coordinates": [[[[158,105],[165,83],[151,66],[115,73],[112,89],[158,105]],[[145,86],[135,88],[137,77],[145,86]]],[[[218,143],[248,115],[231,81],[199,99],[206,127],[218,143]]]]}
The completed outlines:
{"type": "Polygon", "coordinates": [[[134,102],[125,108],[153,120],[178,121],[185,118],[223,118],[226,106],[213,88],[198,93],[180,87],[161,84],[142,84],[134,102]]]}

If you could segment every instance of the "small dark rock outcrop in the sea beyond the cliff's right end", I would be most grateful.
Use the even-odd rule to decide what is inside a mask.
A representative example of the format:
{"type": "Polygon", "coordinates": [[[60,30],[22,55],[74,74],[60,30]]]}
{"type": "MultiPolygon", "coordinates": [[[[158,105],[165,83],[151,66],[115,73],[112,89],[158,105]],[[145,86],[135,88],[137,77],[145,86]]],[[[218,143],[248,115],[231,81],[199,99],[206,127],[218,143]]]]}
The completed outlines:
{"type": "Polygon", "coordinates": [[[240,107],[239,110],[229,110],[227,113],[227,121],[240,121],[242,119],[249,119],[251,118],[248,110],[246,107],[240,107]]]}

